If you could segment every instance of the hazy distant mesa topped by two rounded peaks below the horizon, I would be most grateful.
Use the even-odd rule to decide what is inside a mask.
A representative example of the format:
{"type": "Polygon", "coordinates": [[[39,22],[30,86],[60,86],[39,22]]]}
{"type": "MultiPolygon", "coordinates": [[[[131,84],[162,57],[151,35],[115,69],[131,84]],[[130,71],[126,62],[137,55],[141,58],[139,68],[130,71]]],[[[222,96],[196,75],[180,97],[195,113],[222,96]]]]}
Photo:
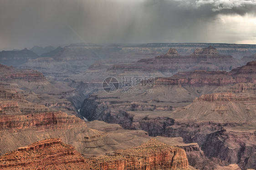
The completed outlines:
{"type": "Polygon", "coordinates": [[[221,55],[218,50],[209,46],[208,48],[196,49],[189,56],[180,55],[176,49],[169,49],[168,53],[155,57],[154,59],[142,59],[137,63],[114,65],[114,70],[140,70],[140,71],[162,71],[182,72],[196,69],[206,71],[230,71],[238,65],[232,56],[221,55]]]}

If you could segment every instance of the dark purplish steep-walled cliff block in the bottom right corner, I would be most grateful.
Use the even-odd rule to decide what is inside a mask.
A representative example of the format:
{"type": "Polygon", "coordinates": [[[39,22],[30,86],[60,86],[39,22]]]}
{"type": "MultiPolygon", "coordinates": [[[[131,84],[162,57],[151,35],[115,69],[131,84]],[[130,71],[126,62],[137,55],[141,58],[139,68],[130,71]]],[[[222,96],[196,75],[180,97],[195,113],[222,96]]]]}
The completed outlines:
{"type": "Polygon", "coordinates": [[[256,131],[231,127],[209,134],[202,149],[208,157],[216,157],[232,164],[237,163],[242,169],[256,169],[256,131]],[[206,149],[207,148],[207,149],[206,149]]]}

